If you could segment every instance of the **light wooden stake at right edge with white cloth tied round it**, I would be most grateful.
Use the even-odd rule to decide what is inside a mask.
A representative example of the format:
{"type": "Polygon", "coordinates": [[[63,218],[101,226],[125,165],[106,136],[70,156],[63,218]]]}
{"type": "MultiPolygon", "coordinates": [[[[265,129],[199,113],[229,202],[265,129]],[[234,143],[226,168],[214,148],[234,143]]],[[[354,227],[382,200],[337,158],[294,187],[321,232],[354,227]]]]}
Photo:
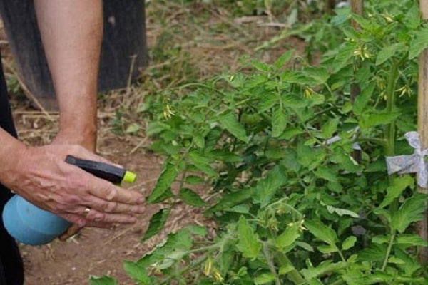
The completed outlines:
{"type": "MultiPolygon", "coordinates": [[[[428,21],[428,0],[419,0],[422,19],[428,21]]],[[[417,98],[417,132],[422,150],[428,148],[428,48],[419,56],[419,82],[417,98]]],[[[428,195],[428,189],[418,187],[418,191],[428,195]]],[[[426,205],[428,207],[428,205],[426,205]]],[[[428,210],[425,210],[424,219],[417,223],[417,232],[420,237],[428,241],[428,210]]],[[[428,264],[428,248],[422,247],[419,252],[419,262],[428,264]]]]}

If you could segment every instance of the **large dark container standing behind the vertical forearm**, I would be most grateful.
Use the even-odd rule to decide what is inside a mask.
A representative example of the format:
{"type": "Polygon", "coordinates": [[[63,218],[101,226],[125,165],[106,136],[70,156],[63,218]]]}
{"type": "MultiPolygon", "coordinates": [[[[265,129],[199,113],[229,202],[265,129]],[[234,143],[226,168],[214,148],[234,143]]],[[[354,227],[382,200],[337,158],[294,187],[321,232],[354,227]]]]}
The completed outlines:
{"type": "MultiPolygon", "coordinates": [[[[147,65],[144,1],[105,0],[98,90],[127,86],[147,65]],[[132,69],[132,70],[131,70],[132,69]]],[[[56,110],[33,0],[0,1],[0,13],[19,79],[46,110],[56,110]]]]}

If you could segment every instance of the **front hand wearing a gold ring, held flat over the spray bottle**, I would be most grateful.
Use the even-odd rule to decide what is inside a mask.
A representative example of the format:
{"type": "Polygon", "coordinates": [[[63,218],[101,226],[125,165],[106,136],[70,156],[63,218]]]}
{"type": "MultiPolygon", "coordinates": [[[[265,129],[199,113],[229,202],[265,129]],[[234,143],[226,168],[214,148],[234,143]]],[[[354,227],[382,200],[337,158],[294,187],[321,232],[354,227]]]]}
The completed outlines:
{"type": "Polygon", "coordinates": [[[69,165],[66,155],[106,163],[78,145],[24,147],[8,163],[1,181],[32,204],[75,224],[73,227],[111,227],[136,222],[144,212],[143,195],[125,190],[69,165]],[[91,211],[83,216],[86,207],[91,211]]]}

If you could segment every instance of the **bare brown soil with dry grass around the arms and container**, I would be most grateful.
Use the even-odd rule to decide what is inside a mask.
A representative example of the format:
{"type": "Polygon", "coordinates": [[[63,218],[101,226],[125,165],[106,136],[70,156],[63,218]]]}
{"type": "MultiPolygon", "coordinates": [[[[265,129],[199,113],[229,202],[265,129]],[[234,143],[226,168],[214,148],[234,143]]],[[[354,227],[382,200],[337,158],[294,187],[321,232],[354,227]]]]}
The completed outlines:
{"type": "MultiPolygon", "coordinates": [[[[159,1],[159,4],[156,4],[157,1],[148,2],[146,29],[150,66],[143,73],[139,86],[106,95],[98,109],[99,154],[136,172],[137,182],[127,187],[146,194],[156,182],[163,157],[147,150],[150,141],[144,137],[144,128],[133,135],[112,133],[111,121],[121,105],[138,105],[145,96],[156,90],[178,86],[190,77],[200,79],[222,70],[233,71],[240,56],[245,54],[272,62],[288,48],[301,51],[304,46],[301,40],[288,38],[279,41],[273,48],[255,53],[255,47],[280,34],[282,24],[272,23],[266,15],[234,18],[226,8],[203,6],[198,1],[191,6],[180,6],[173,1],[159,1]],[[265,25],[267,23],[270,24],[265,25]],[[170,37],[169,42],[165,43],[165,37],[170,37]],[[177,53],[169,53],[171,49],[177,53]]],[[[281,20],[283,18],[277,18],[278,22],[281,20]]],[[[9,58],[6,39],[1,41],[1,49],[4,62],[6,57],[6,72],[13,76],[13,60],[9,58]]],[[[13,98],[13,103],[21,140],[29,145],[49,143],[57,130],[58,114],[46,115],[34,109],[24,95],[13,98]]],[[[127,123],[144,125],[144,119],[135,114],[129,118],[127,123]]],[[[149,206],[146,214],[132,227],[83,229],[68,242],[54,241],[40,247],[21,245],[26,285],[88,284],[90,275],[106,274],[118,279],[118,284],[135,284],[123,271],[123,260],[138,260],[161,242],[166,233],[183,225],[212,224],[200,214],[200,210],[181,205],[170,215],[175,218],[167,223],[161,234],[141,243],[140,239],[156,207],[159,206],[149,206]]]]}

